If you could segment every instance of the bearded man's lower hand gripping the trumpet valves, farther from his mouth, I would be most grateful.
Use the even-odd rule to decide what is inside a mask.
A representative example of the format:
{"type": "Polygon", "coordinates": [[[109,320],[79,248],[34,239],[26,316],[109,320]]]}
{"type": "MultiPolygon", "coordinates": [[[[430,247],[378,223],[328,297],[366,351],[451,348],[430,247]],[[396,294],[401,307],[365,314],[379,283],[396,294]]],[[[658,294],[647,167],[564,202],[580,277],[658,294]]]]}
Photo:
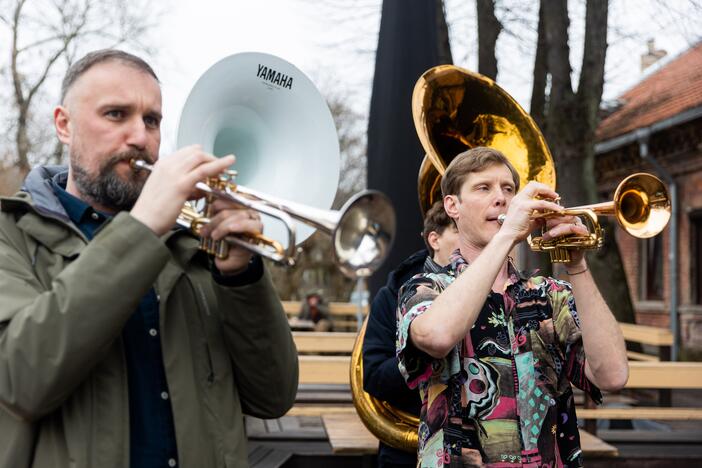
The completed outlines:
{"type": "MultiPolygon", "coordinates": [[[[215,241],[237,234],[256,235],[263,232],[261,216],[257,211],[242,208],[236,203],[218,199],[212,204],[212,219],[202,227],[200,234],[215,241]]],[[[223,275],[233,275],[244,270],[251,260],[251,251],[229,245],[229,255],[226,258],[215,258],[215,266],[223,275]]]]}

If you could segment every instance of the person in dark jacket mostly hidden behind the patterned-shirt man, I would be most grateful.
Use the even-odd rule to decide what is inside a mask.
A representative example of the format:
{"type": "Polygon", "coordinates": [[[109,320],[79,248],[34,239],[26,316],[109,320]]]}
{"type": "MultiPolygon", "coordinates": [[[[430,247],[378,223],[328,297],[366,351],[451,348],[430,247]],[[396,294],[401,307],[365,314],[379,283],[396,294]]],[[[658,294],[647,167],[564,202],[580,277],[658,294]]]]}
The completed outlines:
{"type": "MultiPolygon", "coordinates": [[[[388,275],[388,281],[371,304],[366,335],[363,341],[363,389],[401,410],[419,416],[421,400],[417,390],[410,390],[397,368],[395,335],[397,332],[397,293],[410,278],[425,271],[439,271],[449,263],[449,256],[458,247],[458,231],[436,202],[424,217],[422,232],[426,249],[405,259],[388,275]]],[[[378,447],[378,466],[414,467],[417,453],[405,452],[382,441],[378,447]]]]}

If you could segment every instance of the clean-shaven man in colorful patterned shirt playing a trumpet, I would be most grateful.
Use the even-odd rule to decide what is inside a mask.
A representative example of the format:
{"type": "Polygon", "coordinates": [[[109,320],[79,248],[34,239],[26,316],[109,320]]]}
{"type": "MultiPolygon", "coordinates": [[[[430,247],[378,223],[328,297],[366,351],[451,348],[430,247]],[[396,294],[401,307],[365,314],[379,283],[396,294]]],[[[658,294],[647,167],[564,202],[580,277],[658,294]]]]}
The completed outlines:
{"type": "MultiPolygon", "coordinates": [[[[441,189],[459,249],[398,303],[400,371],[423,402],[419,466],[582,466],[571,384],[599,402],[628,366],[582,251],[565,264],[570,282],[519,273],[509,257],[543,222],[535,212],[563,210],[558,194],[537,182],[517,193],[516,170],[484,147],[457,156],[441,189]]],[[[575,217],[545,222],[545,240],[587,235],[575,217]]]]}

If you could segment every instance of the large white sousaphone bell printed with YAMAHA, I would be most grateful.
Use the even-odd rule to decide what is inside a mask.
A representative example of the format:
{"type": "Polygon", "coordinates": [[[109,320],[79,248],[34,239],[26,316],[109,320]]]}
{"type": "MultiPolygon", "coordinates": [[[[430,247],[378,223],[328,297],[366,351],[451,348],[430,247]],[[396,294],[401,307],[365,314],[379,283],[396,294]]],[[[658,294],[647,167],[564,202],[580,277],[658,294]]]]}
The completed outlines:
{"type": "MultiPolygon", "coordinates": [[[[178,147],[234,154],[238,184],[328,209],[339,182],[339,142],[329,107],[312,81],[274,55],[247,52],[212,65],[188,96],[178,147]]],[[[287,229],[263,215],[268,237],[287,247],[287,229]]],[[[314,228],[296,222],[297,242],[314,228]]]]}

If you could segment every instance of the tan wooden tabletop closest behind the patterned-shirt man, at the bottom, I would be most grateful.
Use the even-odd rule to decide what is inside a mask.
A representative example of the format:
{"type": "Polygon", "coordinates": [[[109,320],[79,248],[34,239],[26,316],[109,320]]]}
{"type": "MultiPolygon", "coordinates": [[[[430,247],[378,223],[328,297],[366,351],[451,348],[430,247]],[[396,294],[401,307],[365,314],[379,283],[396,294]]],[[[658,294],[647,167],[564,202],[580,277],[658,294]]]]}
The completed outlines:
{"type": "MultiPolygon", "coordinates": [[[[366,429],[357,413],[325,414],[322,415],[322,422],[333,453],[357,455],[378,451],[378,439],[366,429]]],[[[580,446],[586,458],[619,455],[616,447],[582,429],[580,446]]]]}

